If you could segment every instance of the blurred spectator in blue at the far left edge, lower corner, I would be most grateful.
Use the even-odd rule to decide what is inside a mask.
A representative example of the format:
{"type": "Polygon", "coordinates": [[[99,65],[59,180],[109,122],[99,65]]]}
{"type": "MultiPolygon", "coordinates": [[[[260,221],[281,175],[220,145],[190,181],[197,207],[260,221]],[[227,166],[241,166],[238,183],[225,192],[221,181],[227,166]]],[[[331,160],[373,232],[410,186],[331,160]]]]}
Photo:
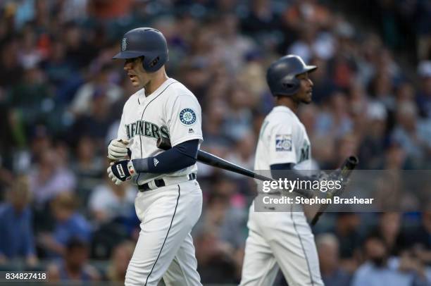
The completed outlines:
{"type": "Polygon", "coordinates": [[[20,176],[8,193],[8,202],[0,206],[0,263],[11,259],[25,259],[30,266],[37,263],[29,203],[28,178],[20,176]]]}

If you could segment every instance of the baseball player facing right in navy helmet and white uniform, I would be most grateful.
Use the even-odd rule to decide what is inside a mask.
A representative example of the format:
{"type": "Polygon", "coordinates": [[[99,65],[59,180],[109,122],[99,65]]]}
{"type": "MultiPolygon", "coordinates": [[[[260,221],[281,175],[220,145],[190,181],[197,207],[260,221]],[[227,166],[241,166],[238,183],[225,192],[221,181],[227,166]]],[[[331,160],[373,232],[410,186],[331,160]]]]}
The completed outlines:
{"type": "MultiPolygon", "coordinates": [[[[294,55],[284,56],[268,68],[266,80],[277,106],[263,121],[255,170],[271,170],[276,178],[275,170],[310,168],[310,140],[295,113],[299,104],[311,103],[313,82],[308,74],[316,68],[294,55]]],[[[241,285],[272,285],[280,268],[291,286],[323,285],[313,233],[304,212],[293,209],[301,206],[292,204],[289,212],[277,213],[254,211],[254,204],[247,224],[241,285]]]]}

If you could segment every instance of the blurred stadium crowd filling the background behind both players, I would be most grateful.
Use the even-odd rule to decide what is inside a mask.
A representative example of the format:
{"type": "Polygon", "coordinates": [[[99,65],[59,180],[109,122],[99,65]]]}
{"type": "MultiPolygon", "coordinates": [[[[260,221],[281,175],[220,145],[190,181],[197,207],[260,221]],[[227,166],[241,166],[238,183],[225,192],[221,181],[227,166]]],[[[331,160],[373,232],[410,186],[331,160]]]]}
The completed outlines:
{"type": "MultiPolygon", "coordinates": [[[[408,2],[414,61],[396,54],[408,43],[388,42],[390,32],[404,35],[397,25],[361,26],[365,18],[329,0],[0,1],[0,269],[123,280],[139,235],[137,189],[108,180],[106,146],[136,92],[111,60],[133,27],[168,39],[168,75],[202,106],[202,149],[252,169],[274,106],[266,68],[298,54],[318,66],[314,103],[299,111],[316,166],[358,154],[362,169],[431,169],[431,2],[377,2],[389,24],[399,19],[385,7],[408,2]]],[[[198,180],[202,282],[235,284],[254,182],[201,164],[198,180]]],[[[328,213],[319,225],[327,285],[430,285],[431,212],[328,213]]]]}

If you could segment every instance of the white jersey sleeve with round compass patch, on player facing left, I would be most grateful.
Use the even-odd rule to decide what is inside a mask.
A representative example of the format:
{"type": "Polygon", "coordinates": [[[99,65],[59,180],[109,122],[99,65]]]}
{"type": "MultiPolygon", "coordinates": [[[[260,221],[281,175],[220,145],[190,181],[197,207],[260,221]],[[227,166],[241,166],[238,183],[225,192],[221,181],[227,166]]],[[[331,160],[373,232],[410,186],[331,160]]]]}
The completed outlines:
{"type": "Polygon", "coordinates": [[[180,94],[168,101],[165,114],[172,146],[192,139],[199,139],[199,144],[203,141],[201,106],[193,94],[180,94]]]}

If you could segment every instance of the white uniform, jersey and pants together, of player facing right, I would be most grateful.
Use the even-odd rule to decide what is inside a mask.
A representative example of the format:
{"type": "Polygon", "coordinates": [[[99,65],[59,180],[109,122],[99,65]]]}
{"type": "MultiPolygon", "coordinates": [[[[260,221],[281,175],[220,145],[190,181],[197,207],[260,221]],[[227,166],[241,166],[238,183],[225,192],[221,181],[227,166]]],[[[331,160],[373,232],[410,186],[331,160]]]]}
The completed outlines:
{"type": "MultiPolygon", "coordinates": [[[[255,158],[256,171],[268,171],[271,165],[282,163],[309,170],[310,140],[292,110],[276,106],[266,116],[255,158]]],[[[304,213],[293,204],[285,212],[257,212],[254,204],[249,209],[240,285],[273,285],[280,268],[289,285],[323,285],[314,236],[304,213]]]]}

